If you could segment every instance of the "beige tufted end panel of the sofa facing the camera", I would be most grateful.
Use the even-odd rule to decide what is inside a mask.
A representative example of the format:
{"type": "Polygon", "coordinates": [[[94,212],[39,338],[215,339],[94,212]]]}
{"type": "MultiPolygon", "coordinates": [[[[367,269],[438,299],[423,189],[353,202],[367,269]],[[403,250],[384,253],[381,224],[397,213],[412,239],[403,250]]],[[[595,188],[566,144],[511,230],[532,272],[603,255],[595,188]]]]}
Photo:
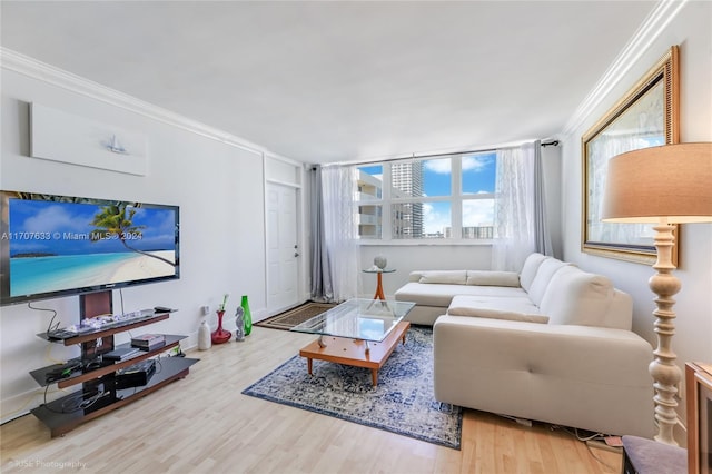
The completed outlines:
{"type": "Polygon", "coordinates": [[[651,345],[635,333],[441,316],[439,402],[609,434],[651,436],[651,345]]]}

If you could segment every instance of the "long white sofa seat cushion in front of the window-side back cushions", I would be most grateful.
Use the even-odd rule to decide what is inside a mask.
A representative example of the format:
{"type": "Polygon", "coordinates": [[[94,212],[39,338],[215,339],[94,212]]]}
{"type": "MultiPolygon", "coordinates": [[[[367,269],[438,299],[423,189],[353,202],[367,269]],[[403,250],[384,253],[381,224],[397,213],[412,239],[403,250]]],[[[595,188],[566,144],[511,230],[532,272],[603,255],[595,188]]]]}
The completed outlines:
{"type": "Polygon", "coordinates": [[[441,314],[445,314],[445,308],[449,306],[456,295],[526,298],[526,293],[522,288],[512,286],[428,285],[415,282],[406,283],[395,293],[398,302],[413,302],[423,306],[439,306],[443,308],[441,314]]]}

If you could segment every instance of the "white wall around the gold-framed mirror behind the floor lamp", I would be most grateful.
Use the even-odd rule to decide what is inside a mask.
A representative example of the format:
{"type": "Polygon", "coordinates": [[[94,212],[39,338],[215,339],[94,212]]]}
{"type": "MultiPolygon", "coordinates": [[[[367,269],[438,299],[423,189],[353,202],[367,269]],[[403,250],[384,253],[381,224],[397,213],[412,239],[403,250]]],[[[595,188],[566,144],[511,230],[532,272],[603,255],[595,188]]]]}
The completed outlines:
{"type": "MultiPolygon", "coordinates": [[[[712,140],[712,3],[689,2],[644,51],[631,71],[606,96],[563,147],[564,258],[582,268],[610,276],[634,299],[633,329],[656,345],[653,332],[655,307],[647,279],[654,270],[645,265],[602,258],[581,251],[581,137],[662,57],[680,46],[681,141],[712,140]]],[[[682,282],[674,310],[676,335],[673,349],[683,368],[688,361],[712,361],[712,225],[682,228],[680,267],[682,282]]],[[[622,363],[624,363],[622,361],[622,363]]],[[[682,404],[684,405],[684,403],[682,404]]],[[[684,406],[680,407],[683,412],[684,406]]]]}

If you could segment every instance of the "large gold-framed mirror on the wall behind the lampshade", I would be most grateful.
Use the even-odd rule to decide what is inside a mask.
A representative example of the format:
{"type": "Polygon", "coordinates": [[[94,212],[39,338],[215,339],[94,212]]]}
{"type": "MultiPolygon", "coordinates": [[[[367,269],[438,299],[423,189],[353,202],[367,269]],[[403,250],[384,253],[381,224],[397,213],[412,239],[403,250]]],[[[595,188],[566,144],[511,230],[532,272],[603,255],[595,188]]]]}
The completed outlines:
{"type": "MultiPolygon", "coordinates": [[[[647,224],[601,221],[609,159],[625,151],[680,140],[679,48],[670,50],[581,139],[582,251],[652,265],[654,230],[647,224]]],[[[679,226],[673,263],[678,264],[679,226]]]]}

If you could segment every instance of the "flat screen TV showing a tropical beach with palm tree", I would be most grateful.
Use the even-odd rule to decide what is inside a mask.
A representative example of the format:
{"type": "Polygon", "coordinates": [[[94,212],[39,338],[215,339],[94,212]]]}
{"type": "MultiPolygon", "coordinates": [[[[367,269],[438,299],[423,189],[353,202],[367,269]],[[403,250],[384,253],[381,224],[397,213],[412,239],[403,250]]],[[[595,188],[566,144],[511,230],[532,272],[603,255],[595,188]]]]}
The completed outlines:
{"type": "Polygon", "coordinates": [[[179,208],[0,191],[0,304],[180,278],[179,208]]]}

